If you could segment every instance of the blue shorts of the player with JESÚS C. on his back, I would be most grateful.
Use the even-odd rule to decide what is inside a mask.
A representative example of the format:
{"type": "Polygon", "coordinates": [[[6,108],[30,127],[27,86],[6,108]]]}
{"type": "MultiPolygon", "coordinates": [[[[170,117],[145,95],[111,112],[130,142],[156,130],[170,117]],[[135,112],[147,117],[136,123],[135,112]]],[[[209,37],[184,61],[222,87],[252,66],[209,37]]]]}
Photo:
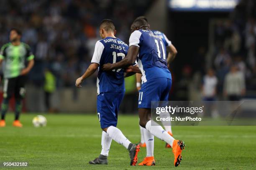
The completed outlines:
{"type": "Polygon", "coordinates": [[[101,92],[97,96],[97,113],[101,128],[117,125],[118,110],[125,92],[101,92]]]}

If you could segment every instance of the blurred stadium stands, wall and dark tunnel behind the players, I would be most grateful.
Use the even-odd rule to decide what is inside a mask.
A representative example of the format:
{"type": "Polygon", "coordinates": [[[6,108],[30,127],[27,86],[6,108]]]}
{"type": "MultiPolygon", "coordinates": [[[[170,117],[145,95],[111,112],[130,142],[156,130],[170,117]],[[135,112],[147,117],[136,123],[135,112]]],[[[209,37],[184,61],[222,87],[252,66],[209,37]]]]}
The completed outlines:
{"type": "MultiPolygon", "coordinates": [[[[255,98],[256,3],[231,1],[238,3],[233,9],[180,10],[165,0],[1,0],[0,44],[8,42],[10,28],[19,28],[22,41],[36,56],[28,75],[26,112],[95,112],[97,73],[84,81],[82,89],[77,90],[74,82],[90,64],[100,39],[98,25],[104,18],[112,19],[117,37],[128,42],[130,25],[139,15],[145,15],[151,29],[164,32],[177,47],[170,100],[202,100],[202,79],[210,67],[218,77],[216,99],[226,100],[223,81],[231,63],[246,77],[243,97],[255,98]]],[[[125,82],[121,112],[136,112],[135,78],[125,82]]]]}

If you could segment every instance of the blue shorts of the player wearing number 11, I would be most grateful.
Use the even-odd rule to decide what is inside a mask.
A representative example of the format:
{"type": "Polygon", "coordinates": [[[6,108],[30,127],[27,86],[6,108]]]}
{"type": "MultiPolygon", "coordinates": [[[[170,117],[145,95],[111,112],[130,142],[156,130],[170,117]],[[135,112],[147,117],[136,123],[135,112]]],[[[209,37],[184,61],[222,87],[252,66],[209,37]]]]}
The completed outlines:
{"type": "Polygon", "coordinates": [[[168,101],[172,79],[154,78],[144,82],[139,90],[138,108],[151,108],[151,101],[168,101]]]}

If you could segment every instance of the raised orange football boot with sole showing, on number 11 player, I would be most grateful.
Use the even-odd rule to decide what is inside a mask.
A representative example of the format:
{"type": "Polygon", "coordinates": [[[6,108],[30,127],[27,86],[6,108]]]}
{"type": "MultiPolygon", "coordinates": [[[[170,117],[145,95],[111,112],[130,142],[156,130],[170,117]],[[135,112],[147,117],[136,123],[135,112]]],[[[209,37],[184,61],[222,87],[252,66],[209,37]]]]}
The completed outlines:
{"type": "Polygon", "coordinates": [[[184,149],[184,142],[182,140],[174,140],[172,143],[172,152],[174,154],[174,166],[179,166],[182,160],[182,150],[184,149]]]}

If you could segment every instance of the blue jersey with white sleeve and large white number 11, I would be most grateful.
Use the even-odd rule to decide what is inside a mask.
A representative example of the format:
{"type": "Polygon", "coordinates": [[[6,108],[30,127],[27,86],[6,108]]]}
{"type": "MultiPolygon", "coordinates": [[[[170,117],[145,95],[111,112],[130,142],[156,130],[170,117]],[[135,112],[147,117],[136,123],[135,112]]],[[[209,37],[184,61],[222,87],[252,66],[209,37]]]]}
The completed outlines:
{"type": "Polygon", "coordinates": [[[142,83],[157,77],[172,79],[166,62],[165,47],[168,43],[171,42],[164,42],[151,30],[136,30],[131,34],[129,46],[136,45],[140,48],[138,65],[142,73],[142,83]]]}

